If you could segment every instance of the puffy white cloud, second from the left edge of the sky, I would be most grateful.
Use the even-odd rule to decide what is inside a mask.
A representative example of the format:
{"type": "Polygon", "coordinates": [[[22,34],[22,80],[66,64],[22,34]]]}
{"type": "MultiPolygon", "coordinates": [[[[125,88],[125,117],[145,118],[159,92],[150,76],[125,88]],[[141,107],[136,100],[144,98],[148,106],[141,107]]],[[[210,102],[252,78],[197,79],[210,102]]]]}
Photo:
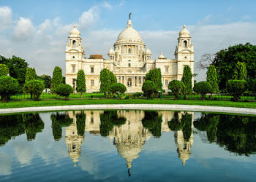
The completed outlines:
{"type": "Polygon", "coordinates": [[[34,36],[34,25],[29,18],[20,17],[15,26],[12,38],[15,41],[25,41],[34,36]]]}

